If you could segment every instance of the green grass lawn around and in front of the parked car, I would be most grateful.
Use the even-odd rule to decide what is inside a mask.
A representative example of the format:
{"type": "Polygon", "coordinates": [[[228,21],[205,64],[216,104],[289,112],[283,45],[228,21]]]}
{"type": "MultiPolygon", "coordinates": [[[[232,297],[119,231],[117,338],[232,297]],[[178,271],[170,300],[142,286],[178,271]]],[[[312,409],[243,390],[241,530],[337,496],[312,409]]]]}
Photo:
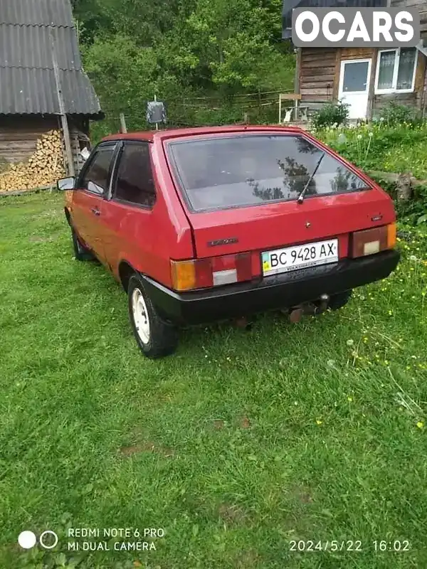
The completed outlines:
{"type": "Polygon", "coordinates": [[[339,312],[184,331],[148,361],[62,196],[1,199],[0,568],[427,567],[426,235],[399,247],[339,312]],[[68,528],[165,535],[68,551],[68,528]],[[46,529],[58,546],[22,553],[46,529]]]}

